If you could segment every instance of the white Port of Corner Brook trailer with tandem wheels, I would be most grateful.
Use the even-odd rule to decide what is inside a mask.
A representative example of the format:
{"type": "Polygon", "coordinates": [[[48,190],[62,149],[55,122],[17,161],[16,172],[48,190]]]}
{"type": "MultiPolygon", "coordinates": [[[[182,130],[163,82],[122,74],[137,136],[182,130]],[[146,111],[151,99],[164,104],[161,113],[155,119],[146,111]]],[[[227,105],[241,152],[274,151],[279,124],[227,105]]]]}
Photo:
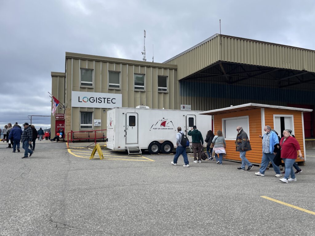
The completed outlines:
{"type": "MultiPolygon", "coordinates": [[[[198,115],[200,111],[149,109],[146,106],[136,108],[113,108],[107,112],[107,148],[112,150],[148,149],[151,154],[160,151],[164,154],[176,148],[177,127],[184,133],[196,125],[205,138],[211,129],[209,115],[198,115]]],[[[188,136],[191,143],[192,138],[188,136]]]]}

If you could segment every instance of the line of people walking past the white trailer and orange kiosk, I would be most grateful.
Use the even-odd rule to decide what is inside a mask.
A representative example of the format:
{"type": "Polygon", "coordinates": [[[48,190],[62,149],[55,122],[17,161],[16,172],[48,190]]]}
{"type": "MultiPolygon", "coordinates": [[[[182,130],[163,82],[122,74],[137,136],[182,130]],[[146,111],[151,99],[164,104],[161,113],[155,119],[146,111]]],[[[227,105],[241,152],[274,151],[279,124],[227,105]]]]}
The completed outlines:
{"type": "MultiPolygon", "coordinates": [[[[239,156],[242,161],[241,166],[238,167],[237,170],[250,171],[254,165],[246,158],[246,152],[252,150],[248,135],[243,130],[242,126],[237,126],[236,131],[237,136],[235,146],[236,151],[239,152],[239,156]]],[[[301,168],[299,168],[295,162],[297,159],[297,153],[299,158],[302,160],[303,156],[300,145],[292,134],[292,131],[289,129],[284,130],[282,138],[280,138],[278,133],[275,130],[272,130],[270,126],[265,126],[264,132],[265,133],[263,135],[259,135],[259,137],[262,138],[262,158],[261,167],[258,172],[255,172],[255,175],[265,176],[265,171],[271,163],[274,171],[276,172],[275,177],[282,177],[282,174],[284,174],[284,177],[279,179],[281,182],[288,183],[290,181],[296,181],[295,174],[302,172],[301,168]],[[282,160],[284,162],[285,170],[280,172],[280,169],[282,168],[282,160]],[[296,169],[295,172],[293,167],[296,169]]],[[[215,157],[216,164],[223,164],[222,160],[224,155],[226,155],[226,142],[221,130],[218,130],[216,135],[214,135],[214,133],[209,130],[204,141],[201,132],[197,129],[197,126],[193,126],[187,134],[192,136],[194,163],[201,163],[203,143],[205,142],[208,160],[213,160],[215,157]]],[[[189,167],[186,146],[183,146],[180,143],[183,135],[185,134],[181,131],[181,127],[177,127],[177,148],[174,160],[171,162],[171,164],[176,166],[179,156],[182,155],[185,163],[183,166],[189,167]]]]}

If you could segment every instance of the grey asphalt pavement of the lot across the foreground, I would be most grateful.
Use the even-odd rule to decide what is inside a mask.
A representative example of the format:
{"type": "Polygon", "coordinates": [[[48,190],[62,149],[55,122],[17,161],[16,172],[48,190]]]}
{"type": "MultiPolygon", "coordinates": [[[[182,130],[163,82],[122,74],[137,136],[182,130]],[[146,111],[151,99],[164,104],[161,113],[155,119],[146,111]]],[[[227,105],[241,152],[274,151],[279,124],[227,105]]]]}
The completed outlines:
{"type": "Polygon", "coordinates": [[[272,168],[259,177],[258,166],[238,171],[225,160],[189,157],[188,168],[182,157],[171,165],[174,155],[89,160],[49,141],[21,159],[22,147],[6,147],[0,235],[315,235],[315,150],[297,181],[282,183],[272,168]]]}

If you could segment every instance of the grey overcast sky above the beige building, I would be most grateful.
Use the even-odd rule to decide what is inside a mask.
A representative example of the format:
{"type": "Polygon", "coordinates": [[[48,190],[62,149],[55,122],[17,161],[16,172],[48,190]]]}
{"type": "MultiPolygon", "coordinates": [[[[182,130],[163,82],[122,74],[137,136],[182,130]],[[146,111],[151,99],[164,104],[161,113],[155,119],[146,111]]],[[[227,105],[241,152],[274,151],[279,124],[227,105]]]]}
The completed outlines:
{"type": "MultiPolygon", "coordinates": [[[[0,0],[0,127],[51,115],[65,52],[167,59],[221,33],[315,50],[314,1],[0,0]]],[[[50,117],[32,123],[50,126],[50,117]]]]}

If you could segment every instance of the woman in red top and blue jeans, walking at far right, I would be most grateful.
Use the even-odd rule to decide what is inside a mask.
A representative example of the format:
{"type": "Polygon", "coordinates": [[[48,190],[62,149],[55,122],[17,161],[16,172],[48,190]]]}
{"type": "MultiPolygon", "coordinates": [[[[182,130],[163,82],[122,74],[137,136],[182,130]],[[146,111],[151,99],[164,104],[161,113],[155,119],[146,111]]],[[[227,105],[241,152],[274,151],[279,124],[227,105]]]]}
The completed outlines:
{"type": "Polygon", "coordinates": [[[299,157],[302,158],[301,148],[298,141],[290,135],[288,130],[283,131],[283,136],[280,140],[281,147],[281,158],[284,161],[285,165],[285,174],[284,178],[279,179],[284,183],[288,181],[296,181],[295,173],[293,171],[293,164],[297,157],[296,151],[299,152],[299,157]],[[289,176],[291,175],[291,178],[289,176]]]}

